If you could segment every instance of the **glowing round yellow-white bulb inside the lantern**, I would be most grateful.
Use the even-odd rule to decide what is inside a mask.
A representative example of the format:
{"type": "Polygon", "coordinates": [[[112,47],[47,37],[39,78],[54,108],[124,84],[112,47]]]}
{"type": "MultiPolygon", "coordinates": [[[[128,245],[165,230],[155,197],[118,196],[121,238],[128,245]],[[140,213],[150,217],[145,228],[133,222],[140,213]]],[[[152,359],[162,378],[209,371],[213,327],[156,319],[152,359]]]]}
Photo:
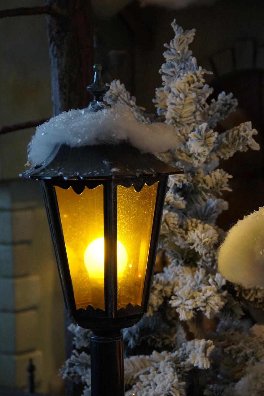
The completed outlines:
{"type": "MultiPolygon", "coordinates": [[[[104,238],[93,240],[85,249],[84,264],[90,278],[104,278],[104,238]]],[[[117,241],[117,277],[123,275],[127,264],[126,248],[117,241]]]]}

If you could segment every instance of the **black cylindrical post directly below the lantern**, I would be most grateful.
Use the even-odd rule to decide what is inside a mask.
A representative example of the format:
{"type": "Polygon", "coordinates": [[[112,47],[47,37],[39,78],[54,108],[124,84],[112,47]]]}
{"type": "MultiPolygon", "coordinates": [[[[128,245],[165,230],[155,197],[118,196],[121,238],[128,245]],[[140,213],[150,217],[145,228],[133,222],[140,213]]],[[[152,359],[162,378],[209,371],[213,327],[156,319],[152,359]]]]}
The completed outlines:
{"type": "Polygon", "coordinates": [[[121,330],[96,331],[90,337],[92,396],[124,396],[121,330]]]}

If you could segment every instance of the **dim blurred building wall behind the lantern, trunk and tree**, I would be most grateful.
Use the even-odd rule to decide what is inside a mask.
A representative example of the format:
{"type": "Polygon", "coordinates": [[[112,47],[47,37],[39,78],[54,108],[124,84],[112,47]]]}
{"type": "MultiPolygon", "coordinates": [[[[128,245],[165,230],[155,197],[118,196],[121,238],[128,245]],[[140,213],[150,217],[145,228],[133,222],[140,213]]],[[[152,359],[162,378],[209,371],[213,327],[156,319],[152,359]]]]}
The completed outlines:
{"type": "MultiPolygon", "coordinates": [[[[196,29],[191,49],[198,65],[214,72],[208,82],[239,100],[219,132],[252,120],[262,142],[262,0],[199,2],[174,10],[125,0],[113,4],[94,2],[94,57],[103,64],[105,82],[119,78],[138,105],[154,112],[163,44],[174,36],[175,18],[184,29],[196,29]]],[[[44,0],[0,2],[0,10],[23,6],[44,6],[44,0]]],[[[0,19],[0,103],[0,126],[52,116],[44,15],[0,19]]],[[[18,178],[33,134],[31,128],[0,135],[0,388],[25,389],[33,358],[37,391],[63,393],[57,375],[65,360],[63,301],[46,214],[38,183],[18,178]]],[[[223,166],[234,175],[230,209],[219,219],[228,228],[264,204],[263,150],[237,154],[223,166]]]]}

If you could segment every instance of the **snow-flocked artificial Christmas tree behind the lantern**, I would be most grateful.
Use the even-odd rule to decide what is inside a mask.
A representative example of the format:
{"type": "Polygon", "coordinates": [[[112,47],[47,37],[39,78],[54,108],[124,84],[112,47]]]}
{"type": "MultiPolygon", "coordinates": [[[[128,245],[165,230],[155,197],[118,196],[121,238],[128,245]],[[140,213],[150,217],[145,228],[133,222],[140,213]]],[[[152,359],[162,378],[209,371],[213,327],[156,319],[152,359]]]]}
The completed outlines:
{"type": "MultiPolygon", "coordinates": [[[[119,81],[111,83],[107,101],[121,103],[141,123],[175,128],[177,148],[157,153],[184,168],[171,176],[166,194],[159,251],[167,265],[155,274],[149,311],[124,329],[126,395],[262,396],[264,394],[264,326],[243,331],[241,306],[263,307],[264,290],[226,282],[217,271],[217,250],[224,232],[216,218],[228,209],[221,198],[230,190],[219,160],[248,147],[258,150],[255,129],[246,122],[218,134],[216,124],[235,110],[237,101],[224,92],[208,101],[212,89],[188,46],[195,30],[175,32],[165,44],[163,87],[154,99],[157,118],[144,113],[119,81]],[[205,321],[216,326],[205,330],[205,321]]],[[[76,349],[61,369],[64,377],[83,383],[90,395],[90,331],[72,325],[76,349]]]]}

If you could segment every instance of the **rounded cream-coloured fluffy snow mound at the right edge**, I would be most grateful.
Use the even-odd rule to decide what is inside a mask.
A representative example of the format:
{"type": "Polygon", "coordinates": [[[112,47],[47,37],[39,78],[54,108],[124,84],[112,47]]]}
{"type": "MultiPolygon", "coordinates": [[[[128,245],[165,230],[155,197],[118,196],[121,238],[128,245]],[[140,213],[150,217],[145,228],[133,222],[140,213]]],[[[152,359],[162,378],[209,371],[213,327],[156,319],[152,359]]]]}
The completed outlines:
{"type": "Polygon", "coordinates": [[[264,207],[230,229],[219,249],[218,269],[230,282],[264,286],[264,207]]]}

